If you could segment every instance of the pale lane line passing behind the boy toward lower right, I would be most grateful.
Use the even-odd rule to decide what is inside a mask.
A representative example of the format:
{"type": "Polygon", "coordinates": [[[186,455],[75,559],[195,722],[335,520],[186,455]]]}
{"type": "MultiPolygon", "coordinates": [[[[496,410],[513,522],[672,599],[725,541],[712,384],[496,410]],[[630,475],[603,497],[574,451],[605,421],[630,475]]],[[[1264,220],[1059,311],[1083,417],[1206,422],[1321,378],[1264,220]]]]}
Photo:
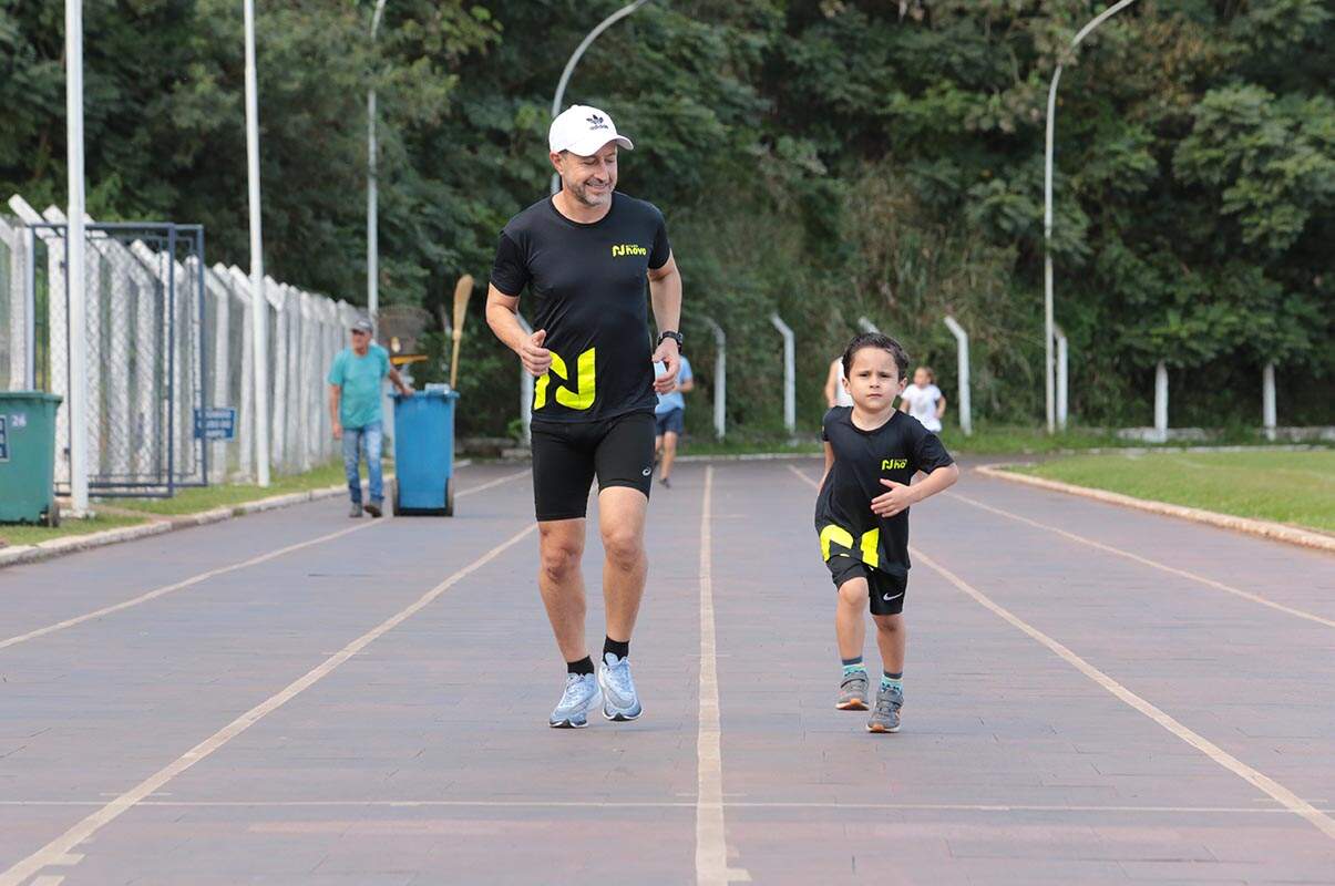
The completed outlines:
{"type": "MultiPolygon", "coordinates": [[[[805,474],[802,474],[801,471],[798,471],[792,466],[789,466],[789,468],[793,471],[793,474],[806,480],[806,483],[816,486],[816,480],[813,480],[812,478],[806,476],[805,474]]],[[[993,603],[985,594],[983,594],[981,591],[971,586],[968,582],[961,579],[959,575],[956,575],[955,572],[949,571],[948,568],[933,560],[930,556],[928,556],[918,548],[910,546],[909,552],[914,558],[925,563],[929,568],[934,570],[939,575],[941,575],[941,578],[953,584],[956,588],[972,596],[979,604],[989,610],[993,615],[1000,616],[1003,620],[1008,622],[1012,627],[1019,628],[1020,631],[1028,634],[1032,639],[1037,640],[1043,646],[1047,646],[1059,658],[1065,660],[1068,664],[1073,666],[1077,671],[1088,677],[1091,681],[1093,681],[1103,689],[1112,693],[1112,695],[1115,695],[1117,699],[1133,707],[1135,710],[1140,711],[1153,722],[1159,723],[1165,730],[1168,730],[1185,743],[1191,745],[1210,759],[1215,761],[1216,763],[1219,763],[1228,771],[1234,773],[1247,783],[1252,785],[1254,787],[1264,791],[1274,799],[1279,801],[1279,803],[1284,806],[1284,809],[1287,809],[1290,813],[1307,819],[1308,822],[1311,822],[1312,826],[1315,826],[1323,834],[1326,834],[1331,839],[1335,839],[1335,821],[1332,821],[1326,813],[1316,809],[1315,806],[1312,806],[1311,803],[1308,803],[1302,797],[1288,790],[1275,779],[1262,774],[1260,771],[1242,762],[1224,749],[1211,742],[1204,735],[1200,735],[1187,729],[1183,723],[1179,723],[1176,719],[1173,719],[1164,711],[1159,710],[1145,699],[1140,698],[1129,689],[1127,689],[1117,681],[1112,679],[1111,677],[1108,677],[1097,667],[1095,667],[1085,659],[1072,652],[1069,648],[1067,648],[1057,640],[1052,639],[1051,636],[1048,636],[1039,628],[1033,627],[1028,622],[1024,622],[1023,619],[1011,614],[1009,610],[993,603]]]]}

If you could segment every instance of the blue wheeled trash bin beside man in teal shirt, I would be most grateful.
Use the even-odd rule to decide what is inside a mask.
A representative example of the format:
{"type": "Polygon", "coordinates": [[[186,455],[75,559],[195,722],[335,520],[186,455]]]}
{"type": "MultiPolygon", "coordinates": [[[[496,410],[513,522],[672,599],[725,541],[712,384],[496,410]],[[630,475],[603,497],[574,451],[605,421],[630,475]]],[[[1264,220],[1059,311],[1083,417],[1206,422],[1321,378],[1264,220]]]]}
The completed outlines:
{"type": "Polygon", "coordinates": [[[395,516],[454,516],[455,391],[394,395],[395,516]]]}

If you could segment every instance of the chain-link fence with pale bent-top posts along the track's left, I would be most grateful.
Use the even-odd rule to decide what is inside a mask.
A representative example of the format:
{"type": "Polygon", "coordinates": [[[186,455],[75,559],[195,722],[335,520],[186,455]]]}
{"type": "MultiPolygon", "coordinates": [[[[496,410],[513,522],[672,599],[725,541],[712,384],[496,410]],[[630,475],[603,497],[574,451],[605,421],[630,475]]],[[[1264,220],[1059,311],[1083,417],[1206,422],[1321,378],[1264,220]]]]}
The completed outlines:
{"type": "MultiPolygon", "coordinates": [[[[65,398],[57,487],[69,479],[64,217],[9,200],[0,217],[0,390],[65,398]]],[[[207,267],[190,226],[99,226],[85,250],[88,454],[93,494],[162,492],[255,475],[248,276],[207,267]],[[212,439],[208,430],[230,428],[212,439]]],[[[310,470],[336,454],[324,375],[351,306],[266,279],[271,466],[310,470]]]]}

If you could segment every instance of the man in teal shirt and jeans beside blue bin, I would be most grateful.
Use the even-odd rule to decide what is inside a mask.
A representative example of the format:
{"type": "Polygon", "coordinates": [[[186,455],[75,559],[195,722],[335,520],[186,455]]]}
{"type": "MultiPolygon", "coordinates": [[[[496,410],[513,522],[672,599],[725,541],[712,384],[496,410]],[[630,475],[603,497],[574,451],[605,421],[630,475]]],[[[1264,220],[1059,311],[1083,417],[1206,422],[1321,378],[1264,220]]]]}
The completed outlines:
{"type": "Polygon", "coordinates": [[[366,451],[366,472],[371,476],[371,500],[366,512],[383,512],[384,482],[380,476],[380,450],[384,430],[380,420],[380,382],[390,378],[400,394],[413,394],[399,371],[390,366],[390,352],[371,342],[371,322],[362,318],[352,324],[352,344],[338,352],[330,367],[330,416],[334,439],[343,440],[343,470],[347,491],[352,496],[348,516],[362,516],[362,474],[358,462],[366,451]]]}

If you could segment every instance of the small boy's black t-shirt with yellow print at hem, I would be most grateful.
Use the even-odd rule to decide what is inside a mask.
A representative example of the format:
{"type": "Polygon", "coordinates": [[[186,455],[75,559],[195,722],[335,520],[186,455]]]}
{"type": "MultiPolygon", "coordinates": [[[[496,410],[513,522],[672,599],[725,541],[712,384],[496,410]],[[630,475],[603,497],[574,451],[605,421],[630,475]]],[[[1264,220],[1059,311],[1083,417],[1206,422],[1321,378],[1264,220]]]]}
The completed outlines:
{"type": "Polygon", "coordinates": [[[885,519],[872,512],[872,499],[889,491],[881,478],[908,484],[918,471],[930,474],[955,462],[941,440],[913,416],[896,410],[874,431],[853,424],[853,407],[825,414],[821,439],[834,450],[834,464],[816,496],[816,531],[821,554],[862,560],[890,575],[909,568],[909,511],[885,519]]]}

